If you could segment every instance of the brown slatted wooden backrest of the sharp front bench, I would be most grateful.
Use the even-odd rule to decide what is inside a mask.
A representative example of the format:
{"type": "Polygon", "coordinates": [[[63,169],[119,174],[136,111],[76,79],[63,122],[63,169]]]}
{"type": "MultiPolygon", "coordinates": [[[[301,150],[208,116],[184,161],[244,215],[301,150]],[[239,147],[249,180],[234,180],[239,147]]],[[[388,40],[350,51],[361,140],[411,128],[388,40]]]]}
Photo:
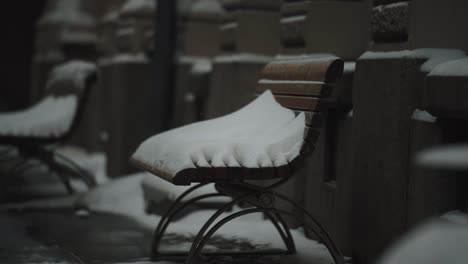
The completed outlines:
{"type": "Polygon", "coordinates": [[[282,106],[305,114],[303,154],[317,141],[323,112],[332,104],[332,89],[343,67],[343,60],[336,57],[299,57],[273,61],[260,74],[257,94],[270,90],[282,106]]]}

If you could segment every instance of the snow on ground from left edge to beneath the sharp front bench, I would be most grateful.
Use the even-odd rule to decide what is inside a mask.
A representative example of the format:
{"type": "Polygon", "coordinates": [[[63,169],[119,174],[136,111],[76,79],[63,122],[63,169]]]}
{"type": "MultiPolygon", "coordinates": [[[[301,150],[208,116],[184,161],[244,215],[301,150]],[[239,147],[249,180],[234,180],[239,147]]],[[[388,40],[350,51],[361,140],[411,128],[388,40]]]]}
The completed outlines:
{"type": "MultiPolygon", "coordinates": [[[[64,150],[62,149],[62,153],[65,155],[68,153],[68,155],[74,156],[75,159],[80,155],[84,155],[83,153],[80,154],[80,151],[74,148],[68,148],[64,150]]],[[[111,212],[126,215],[136,220],[143,227],[146,227],[148,233],[151,233],[159,222],[160,216],[147,215],[145,213],[143,182],[146,179],[147,181],[152,182],[152,184],[157,184],[157,180],[152,181],[154,178],[156,177],[153,175],[148,175],[147,173],[137,173],[102,183],[97,188],[77,196],[32,201],[16,205],[10,204],[8,206],[0,207],[0,210],[20,210],[30,208],[47,209],[63,207],[81,208],[82,210],[77,211],[77,217],[86,217],[88,214],[92,214],[94,211],[111,212]]],[[[177,194],[186,188],[189,187],[172,186],[172,189],[169,188],[169,191],[167,191],[165,194],[166,196],[162,196],[161,199],[166,201],[173,200],[177,194]]],[[[213,189],[212,187],[208,187],[205,191],[211,192],[213,189]]],[[[239,210],[239,208],[235,208],[234,210],[239,210]]],[[[214,210],[208,209],[192,212],[174,222],[169,227],[168,233],[177,234],[178,237],[176,236],[176,241],[177,239],[182,239],[182,241],[185,241],[187,238],[191,238],[193,235],[195,235],[196,231],[206,222],[208,217],[211,216],[213,212],[214,210]]],[[[227,214],[223,214],[222,217],[226,215],[227,214]]],[[[280,263],[332,263],[332,260],[323,245],[317,243],[316,241],[307,239],[302,230],[292,230],[292,234],[296,239],[298,254],[293,256],[282,256],[280,263]]],[[[282,240],[280,239],[274,227],[271,225],[271,223],[265,221],[261,214],[252,214],[238,218],[229,225],[221,228],[216,235],[219,235],[228,241],[248,241],[250,244],[260,248],[284,248],[282,240]]],[[[181,248],[188,248],[189,246],[189,243],[181,242],[176,243],[175,248],[169,245],[165,247],[165,249],[180,250],[181,248]]],[[[210,246],[208,246],[208,249],[209,248],[210,246]]],[[[50,251],[50,249],[46,250],[47,252],[50,251]]],[[[47,263],[47,260],[44,260],[43,262],[32,263],[45,264],[47,263]]],[[[147,260],[135,260],[128,263],[146,264],[151,262],[148,262],[147,260]]],[[[158,263],[171,264],[171,262],[158,263]]]]}

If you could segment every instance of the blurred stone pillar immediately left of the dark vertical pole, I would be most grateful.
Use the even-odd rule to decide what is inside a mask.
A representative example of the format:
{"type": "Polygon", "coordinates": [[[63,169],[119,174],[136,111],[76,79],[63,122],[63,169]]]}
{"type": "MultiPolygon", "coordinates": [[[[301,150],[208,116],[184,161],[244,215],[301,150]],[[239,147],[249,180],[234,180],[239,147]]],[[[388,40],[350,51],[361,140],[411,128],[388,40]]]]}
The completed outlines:
{"type": "Polygon", "coordinates": [[[128,158],[143,140],[155,134],[152,116],[154,65],[147,59],[153,45],[155,10],[154,0],[128,0],[117,15],[115,11],[109,11],[110,16],[103,19],[110,18],[110,21],[101,24],[104,53],[99,66],[110,177],[136,171],[128,158]],[[118,17],[117,21],[115,17],[118,17]],[[116,26],[115,34],[111,33],[113,25],[116,26]]]}

